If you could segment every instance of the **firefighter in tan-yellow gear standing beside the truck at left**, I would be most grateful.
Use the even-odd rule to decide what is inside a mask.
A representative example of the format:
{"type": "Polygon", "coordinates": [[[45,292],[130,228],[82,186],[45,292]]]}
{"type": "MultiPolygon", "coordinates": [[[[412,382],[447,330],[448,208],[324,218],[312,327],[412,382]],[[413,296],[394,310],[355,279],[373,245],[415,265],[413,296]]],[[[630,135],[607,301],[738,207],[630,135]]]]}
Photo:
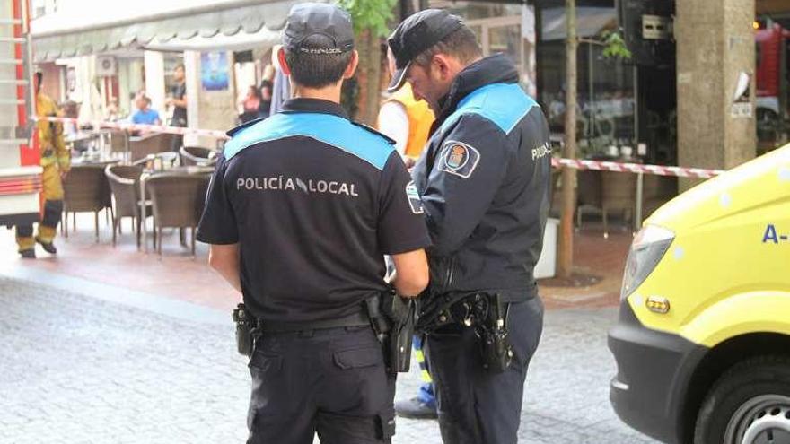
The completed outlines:
{"type": "MultiPolygon", "coordinates": [[[[58,109],[55,100],[40,91],[41,73],[36,73],[36,116],[39,118],[57,117],[58,109]]],[[[66,149],[63,138],[63,125],[56,122],[40,120],[36,123],[39,132],[39,145],[41,150],[41,167],[44,213],[39,222],[39,232],[33,237],[32,225],[16,227],[16,243],[19,254],[24,258],[36,257],[36,242],[49,254],[57,254],[53,240],[57,233],[57,224],[63,213],[63,183],[68,170],[71,168],[71,156],[66,149]]]]}

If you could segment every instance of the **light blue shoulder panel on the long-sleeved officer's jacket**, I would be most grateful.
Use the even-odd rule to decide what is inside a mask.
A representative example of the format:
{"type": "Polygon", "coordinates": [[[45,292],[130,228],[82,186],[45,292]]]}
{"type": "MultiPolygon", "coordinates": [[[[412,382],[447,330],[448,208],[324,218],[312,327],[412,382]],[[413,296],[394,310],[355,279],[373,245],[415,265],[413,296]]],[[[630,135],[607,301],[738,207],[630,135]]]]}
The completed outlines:
{"type": "Polygon", "coordinates": [[[472,91],[442,124],[442,131],[464,114],[478,114],[491,120],[505,134],[510,134],[532,107],[538,103],[517,83],[492,83],[472,91]]]}

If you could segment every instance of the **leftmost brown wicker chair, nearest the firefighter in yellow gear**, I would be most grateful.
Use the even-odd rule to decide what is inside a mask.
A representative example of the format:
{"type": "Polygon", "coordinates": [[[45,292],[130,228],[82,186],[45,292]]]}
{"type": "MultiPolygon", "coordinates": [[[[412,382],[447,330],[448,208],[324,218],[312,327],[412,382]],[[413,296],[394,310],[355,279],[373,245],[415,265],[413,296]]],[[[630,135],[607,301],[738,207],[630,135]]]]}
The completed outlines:
{"type": "MultiPolygon", "coordinates": [[[[104,165],[74,165],[63,181],[64,235],[68,237],[68,213],[87,213],[94,215],[96,241],[99,241],[99,212],[105,208],[112,211],[110,184],[104,175],[104,165]]],[[[113,216],[114,217],[114,216],[113,216]]],[[[76,231],[76,217],[72,218],[76,231]]]]}

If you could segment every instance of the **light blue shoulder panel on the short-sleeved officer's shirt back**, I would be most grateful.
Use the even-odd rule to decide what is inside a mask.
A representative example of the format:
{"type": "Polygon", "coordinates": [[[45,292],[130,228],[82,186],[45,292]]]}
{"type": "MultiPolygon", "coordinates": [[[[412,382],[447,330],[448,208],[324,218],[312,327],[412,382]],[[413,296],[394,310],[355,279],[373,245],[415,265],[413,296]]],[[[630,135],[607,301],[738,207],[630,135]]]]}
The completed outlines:
{"type": "Polygon", "coordinates": [[[320,113],[279,113],[242,129],[225,144],[224,157],[233,156],[254,144],[303,135],[332,145],[384,169],[394,147],[381,135],[355,126],[345,118],[320,113]]]}

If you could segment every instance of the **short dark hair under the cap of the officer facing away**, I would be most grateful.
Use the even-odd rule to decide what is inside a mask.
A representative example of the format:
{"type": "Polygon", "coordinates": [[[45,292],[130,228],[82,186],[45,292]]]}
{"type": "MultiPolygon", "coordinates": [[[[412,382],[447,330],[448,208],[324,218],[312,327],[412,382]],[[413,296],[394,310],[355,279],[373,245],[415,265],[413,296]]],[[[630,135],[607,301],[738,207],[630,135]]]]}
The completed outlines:
{"type": "MultiPolygon", "coordinates": [[[[324,36],[312,36],[308,45],[316,48],[328,46],[324,36]]],[[[305,43],[303,43],[305,45],[305,43]]],[[[323,88],[338,83],[351,62],[352,51],[338,54],[312,53],[305,51],[289,51],[285,48],[285,63],[291,69],[294,83],[309,88],[323,88]]]]}

